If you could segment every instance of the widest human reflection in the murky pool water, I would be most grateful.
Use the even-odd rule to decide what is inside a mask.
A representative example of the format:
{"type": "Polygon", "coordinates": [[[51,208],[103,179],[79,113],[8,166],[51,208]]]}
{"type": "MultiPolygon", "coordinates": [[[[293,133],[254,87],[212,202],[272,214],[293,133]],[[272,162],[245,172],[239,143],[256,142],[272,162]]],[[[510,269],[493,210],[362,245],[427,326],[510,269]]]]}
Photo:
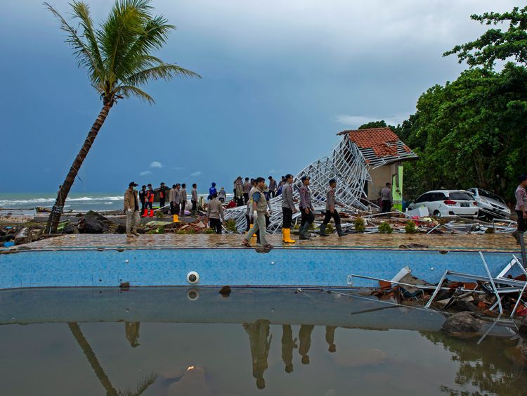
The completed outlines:
{"type": "Polygon", "coordinates": [[[263,372],[267,369],[267,357],[271,348],[268,320],[259,319],[254,324],[243,324],[245,332],[249,334],[252,356],[252,376],[256,378],[256,388],[266,387],[266,380],[263,379],[263,372]]]}

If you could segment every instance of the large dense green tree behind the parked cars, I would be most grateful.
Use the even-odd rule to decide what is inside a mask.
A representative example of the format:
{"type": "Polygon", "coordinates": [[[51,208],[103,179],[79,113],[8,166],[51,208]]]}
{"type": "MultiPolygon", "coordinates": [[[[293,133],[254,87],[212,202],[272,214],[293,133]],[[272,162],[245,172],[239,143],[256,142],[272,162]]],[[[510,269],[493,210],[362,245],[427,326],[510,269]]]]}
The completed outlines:
{"type": "Polygon", "coordinates": [[[419,155],[405,164],[406,198],[471,186],[512,198],[516,176],[527,168],[526,117],[527,70],[512,63],[502,72],[466,70],[431,87],[397,131],[419,155]]]}

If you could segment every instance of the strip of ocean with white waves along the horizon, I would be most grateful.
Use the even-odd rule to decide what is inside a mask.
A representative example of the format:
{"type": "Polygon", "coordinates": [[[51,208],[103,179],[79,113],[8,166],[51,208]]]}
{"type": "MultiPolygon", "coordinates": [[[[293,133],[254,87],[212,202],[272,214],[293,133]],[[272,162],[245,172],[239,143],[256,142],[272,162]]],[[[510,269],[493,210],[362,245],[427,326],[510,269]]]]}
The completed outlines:
{"type": "MultiPolygon", "coordinates": [[[[187,190],[190,199],[190,189],[187,190]]],[[[207,194],[200,193],[207,198],[207,194]]],[[[233,194],[227,194],[230,199],[233,194]]],[[[51,208],[56,200],[56,193],[0,193],[0,209],[31,214],[37,206],[51,208]]],[[[110,193],[70,193],[67,196],[64,210],[87,212],[88,210],[122,210],[124,191],[110,193]]]]}

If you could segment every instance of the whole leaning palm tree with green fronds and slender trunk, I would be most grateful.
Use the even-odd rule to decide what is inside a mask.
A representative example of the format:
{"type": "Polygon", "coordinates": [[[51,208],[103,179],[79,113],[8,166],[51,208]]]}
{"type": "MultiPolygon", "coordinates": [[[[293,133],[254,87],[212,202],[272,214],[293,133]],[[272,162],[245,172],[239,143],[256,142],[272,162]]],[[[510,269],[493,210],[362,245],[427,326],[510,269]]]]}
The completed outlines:
{"type": "Polygon", "coordinates": [[[45,229],[46,234],[51,234],[56,232],[67,194],[110,108],[120,99],[131,96],[154,103],[152,96],[141,89],[152,80],[200,75],[152,55],[165,44],[174,26],[162,15],[152,14],[150,0],[117,0],[108,18],[98,27],[91,19],[89,6],[73,1],[71,19],[79,23],[78,30],[53,6],[48,3],[44,6],[67,33],[66,42],[72,46],[79,67],[88,71],[91,85],[103,101],[103,108],[57,193],[45,229]]]}

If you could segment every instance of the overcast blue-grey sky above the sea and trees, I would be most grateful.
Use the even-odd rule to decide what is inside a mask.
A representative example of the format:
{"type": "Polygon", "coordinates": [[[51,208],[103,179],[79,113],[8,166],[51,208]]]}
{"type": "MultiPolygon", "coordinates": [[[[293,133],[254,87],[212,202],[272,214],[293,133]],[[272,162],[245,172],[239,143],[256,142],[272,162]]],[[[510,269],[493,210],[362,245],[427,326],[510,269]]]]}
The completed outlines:
{"type": "MultiPolygon", "coordinates": [[[[68,0],[50,0],[67,13],[68,0]]],[[[113,1],[91,0],[95,20],[113,1]]],[[[443,51],[481,35],[491,0],[157,0],[177,26],[160,57],[202,79],[156,82],[150,106],[122,101],[73,191],[299,172],[337,132],[415,112],[465,67],[443,51]]],[[[40,0],[0,5],[0,191],[56,191],[102,106],[40,0]]]]}

